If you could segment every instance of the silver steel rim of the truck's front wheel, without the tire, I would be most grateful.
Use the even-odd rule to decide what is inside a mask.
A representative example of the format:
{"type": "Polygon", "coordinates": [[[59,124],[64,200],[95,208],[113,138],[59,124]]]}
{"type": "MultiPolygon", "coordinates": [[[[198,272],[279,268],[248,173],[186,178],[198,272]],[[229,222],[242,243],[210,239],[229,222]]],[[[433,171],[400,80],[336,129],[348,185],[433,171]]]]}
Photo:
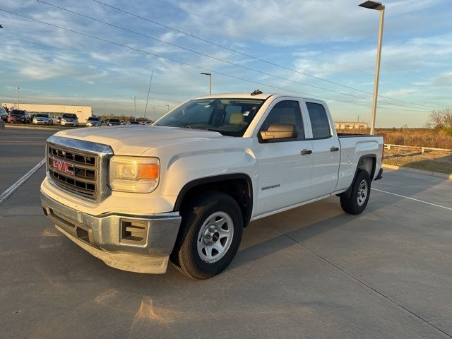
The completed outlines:
{"type": "Polygon", "coordinates": [[[203,222],[198,232],[199,257],[206,263],[219,261],[230,248],[234,236],[234,222],[229,214],[215,212],[203,222]]]}

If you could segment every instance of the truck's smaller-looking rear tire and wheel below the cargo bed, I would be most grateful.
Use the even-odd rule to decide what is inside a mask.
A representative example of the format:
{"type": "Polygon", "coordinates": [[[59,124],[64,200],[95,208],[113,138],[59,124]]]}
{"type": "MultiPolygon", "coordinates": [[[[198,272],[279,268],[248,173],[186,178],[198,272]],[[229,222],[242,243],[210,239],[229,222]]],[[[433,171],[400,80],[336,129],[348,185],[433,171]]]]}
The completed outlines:
{"type": "Polygon", "coordinates": [[[344,212],[355,215],[362,213],[366,209],[370,197],[369,173],[362,169],[358,169],[358,171],[355,182],[352,185],[350,198],[340,197],[340,207],[342,207],[344,212]],[[365,194],[365,197],[363,197],[363,194],[365,194]]]}

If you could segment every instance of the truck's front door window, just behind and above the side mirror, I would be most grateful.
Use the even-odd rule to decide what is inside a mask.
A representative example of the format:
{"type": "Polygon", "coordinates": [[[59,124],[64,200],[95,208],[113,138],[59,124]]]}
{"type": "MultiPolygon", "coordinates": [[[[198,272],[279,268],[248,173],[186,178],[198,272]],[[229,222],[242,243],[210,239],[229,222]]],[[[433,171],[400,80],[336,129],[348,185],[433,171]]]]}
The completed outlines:
{"type": "Polygon", "coordinates": [[[302,123],[302,113],[297,101],[280,101],[268,114],[266,121],[263,121],[261,131],[268,131],[271,124],[289,124],[295,126],[297,139],[304,139],[304,129],[302,123]]]}

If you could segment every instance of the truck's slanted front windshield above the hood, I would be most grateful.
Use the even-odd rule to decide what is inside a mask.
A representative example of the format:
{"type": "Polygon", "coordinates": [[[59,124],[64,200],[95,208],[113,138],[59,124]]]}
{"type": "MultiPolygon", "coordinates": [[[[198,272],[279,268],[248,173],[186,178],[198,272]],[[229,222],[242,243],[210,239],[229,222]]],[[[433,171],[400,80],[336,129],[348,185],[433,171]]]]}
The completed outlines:
{"type": "Polygon", "coordinates": [[[206,129],[223,136],[243,136],[264,100],[198,99],[186,102],[155,125],[206,129]]]}

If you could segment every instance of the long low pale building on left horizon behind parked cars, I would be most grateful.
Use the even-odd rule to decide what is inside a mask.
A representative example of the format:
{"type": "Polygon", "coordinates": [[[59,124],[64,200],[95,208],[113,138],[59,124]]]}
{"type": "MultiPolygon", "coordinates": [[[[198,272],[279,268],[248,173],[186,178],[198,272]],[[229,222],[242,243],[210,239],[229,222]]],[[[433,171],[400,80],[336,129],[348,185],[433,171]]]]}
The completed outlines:
{"type": "MultiPolygon", "coordinates": [[[[17,108],[15,102],[4,102],[3,107],[17,108]]],[[[50,117],[57,119],[64,113],[77,114],[78,122],[84,124],[88,117],[93,115],[93,108],[91,106],[73,106],[73,105],[47,105],[47,104],[23,104],[20,102],[19,109],[24,109],[30,115],[38,113],[47,113],[50,117]]]]}

